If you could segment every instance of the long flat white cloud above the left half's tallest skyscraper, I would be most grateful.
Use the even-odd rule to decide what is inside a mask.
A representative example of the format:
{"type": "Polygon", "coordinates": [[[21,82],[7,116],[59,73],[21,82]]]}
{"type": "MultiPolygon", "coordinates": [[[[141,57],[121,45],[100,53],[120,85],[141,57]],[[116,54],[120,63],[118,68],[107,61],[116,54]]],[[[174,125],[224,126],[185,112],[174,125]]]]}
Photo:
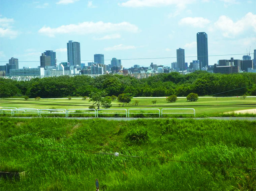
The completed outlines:
{"type": "Polygon", "coordinates": [[[136,33],[138,32],[138,27],[132,25],[129,22],[111,23],[111,22],[82,22],[78,24],[62,25],[57,28],[42,27],[39,29],[39,33],[47,35],[49,37],[55,37],[56,34],[89,34],[89,33],[106,33],[106,32],[116,32],[116,31],[126,31],[136,33]]]}

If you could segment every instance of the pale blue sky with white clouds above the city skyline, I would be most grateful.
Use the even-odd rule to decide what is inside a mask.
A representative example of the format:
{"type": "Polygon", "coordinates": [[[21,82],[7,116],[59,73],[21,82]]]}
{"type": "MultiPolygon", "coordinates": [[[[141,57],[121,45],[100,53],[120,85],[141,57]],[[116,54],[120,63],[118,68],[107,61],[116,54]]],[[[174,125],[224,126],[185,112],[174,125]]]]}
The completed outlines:
{"type": "MultiPolygon", "coordinates": [[[[15,57],[20,68],[37,67],[45,50],[65,61],[69,40],[80,42],[81,60],[96,53],[105,59],[174,57],[122,60],[124,67],[170,66],[183,48],[185,56],[195,56],[185,58],[189,63],[197,59],[197,32],[207,33],[209,55],[243,54],[250,46],[253,53],[256,0],[0,0],[1,65],[15,57]]],[[[242,59],[210,56],[209,65],[230,57],[242,59]]]]}

